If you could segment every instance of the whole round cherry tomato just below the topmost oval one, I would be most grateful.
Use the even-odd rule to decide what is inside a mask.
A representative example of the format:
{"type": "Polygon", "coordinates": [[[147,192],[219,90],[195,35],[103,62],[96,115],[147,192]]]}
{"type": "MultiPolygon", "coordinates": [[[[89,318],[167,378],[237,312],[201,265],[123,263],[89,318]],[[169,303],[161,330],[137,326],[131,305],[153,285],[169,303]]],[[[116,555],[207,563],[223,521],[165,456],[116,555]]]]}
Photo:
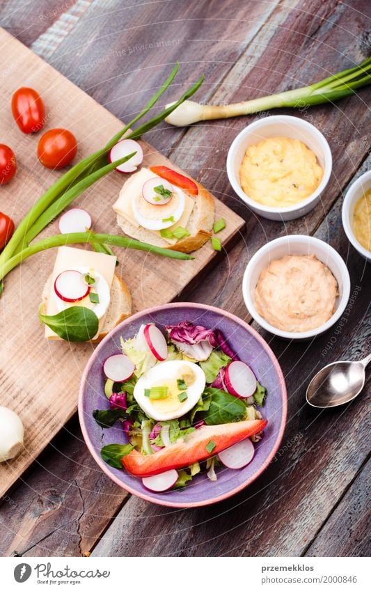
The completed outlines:
{"type": "Polygon", "coordinates": [[[68,129],[49,129],[38,143],[38,159],[47,168],[67,166],[76,152],[76,138],[68,129]]]}

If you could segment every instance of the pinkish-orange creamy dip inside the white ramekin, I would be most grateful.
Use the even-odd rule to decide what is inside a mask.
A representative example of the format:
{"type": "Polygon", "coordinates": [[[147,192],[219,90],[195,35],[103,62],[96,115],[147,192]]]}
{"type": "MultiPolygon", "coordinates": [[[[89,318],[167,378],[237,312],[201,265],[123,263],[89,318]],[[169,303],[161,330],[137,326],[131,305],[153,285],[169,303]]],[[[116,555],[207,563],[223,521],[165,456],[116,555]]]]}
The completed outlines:
{"type": "Polygon", "coordinates": [[[269,263],[255,288],[255,306],[271,326],[287,332],[317,329],[335,311],[338,282],[315,255],[290,255],[269,263]]]}

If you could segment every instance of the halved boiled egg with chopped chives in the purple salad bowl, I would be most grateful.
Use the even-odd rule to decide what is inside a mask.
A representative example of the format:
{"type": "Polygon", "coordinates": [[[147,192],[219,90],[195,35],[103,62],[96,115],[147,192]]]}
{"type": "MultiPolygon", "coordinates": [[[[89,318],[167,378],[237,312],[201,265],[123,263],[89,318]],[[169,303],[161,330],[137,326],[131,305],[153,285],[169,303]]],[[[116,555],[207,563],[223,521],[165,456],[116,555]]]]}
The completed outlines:
{"type": "Polygon", "coordinates": [[[136,382],[134,398],[155,420],[183,416],[198,402],[205,389],[205,374],[191,361],[162,361],[136,382]]]}

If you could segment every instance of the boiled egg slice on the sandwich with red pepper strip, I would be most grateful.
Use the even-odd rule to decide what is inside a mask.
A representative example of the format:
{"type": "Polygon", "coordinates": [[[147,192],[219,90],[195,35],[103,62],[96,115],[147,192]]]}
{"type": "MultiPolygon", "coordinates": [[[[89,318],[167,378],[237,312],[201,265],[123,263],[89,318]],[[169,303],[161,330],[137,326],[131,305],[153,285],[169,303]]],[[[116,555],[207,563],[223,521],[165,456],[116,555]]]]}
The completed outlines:
{"type": "MultiPolygon", "coordinates": [[[[163,184],[159,179],[159,184],[163,184]]],[[[173,187],[173,196],[163,205],[153,205],[143,194],[132,196],[132,210],[136,221],[147,230],[164,230],[180,220],[184,212],[185,198],[182,189],[173,187]]]]}

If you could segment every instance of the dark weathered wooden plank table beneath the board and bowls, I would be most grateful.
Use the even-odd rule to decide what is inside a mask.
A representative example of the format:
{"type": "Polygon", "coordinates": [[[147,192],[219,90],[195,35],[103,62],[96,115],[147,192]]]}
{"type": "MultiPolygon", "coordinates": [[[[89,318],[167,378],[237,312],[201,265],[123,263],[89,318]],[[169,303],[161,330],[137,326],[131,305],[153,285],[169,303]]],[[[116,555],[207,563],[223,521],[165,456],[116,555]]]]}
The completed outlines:
{"type": "MultiPolygon", "coordinates": [[[[123,120],[176,60],[166,102],[205,73],[197,99],[215,103],[287,90],[360,63],[370,54],[369,0],[8,0],[1,26],[123,120]],[[135,6],[133,6],[135,5],[135,6]]],[[[328,139],[333,175],[305,218],[258,218],[233,194],[226,153],[253,117],[191,128],[162,125],[148,140],[246,219],[246,232],[184,299],[251,320],[242,274],[265,242],[312,234],[334,246],[352,278],[348,322],[314,342],[267,339],[287,381],[281,450],[251,487],[228,501],[171,510],[127,496],[90,457],[73,418],[0,507],[3,555],[366,555],[369,432],[367,397],[316,411],[306,386],[322,365],[370,351],[370,265],[349,246],[342,196],[370,168],[371,90],[305,116],[328,139]]],[[[150,302],[148,302],[150,305],[150,302]]],[[[370,377],[369,372],[369,377],[370,377]]]]}

